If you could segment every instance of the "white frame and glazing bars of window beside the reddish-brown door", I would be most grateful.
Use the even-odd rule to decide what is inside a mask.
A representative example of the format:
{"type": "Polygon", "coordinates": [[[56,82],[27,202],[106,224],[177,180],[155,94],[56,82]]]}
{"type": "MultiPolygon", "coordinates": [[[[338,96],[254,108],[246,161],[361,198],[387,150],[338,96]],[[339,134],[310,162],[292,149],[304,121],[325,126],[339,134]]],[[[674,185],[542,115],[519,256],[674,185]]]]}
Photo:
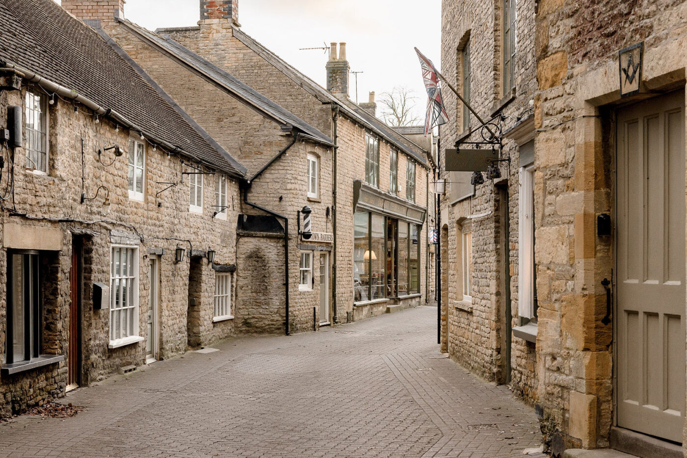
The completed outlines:
{"type": "MultiPolygon", "coordinates": [[[[139,291],[138,291],[138,285],[139,285],[139,251],[138,247],[133,247],[131,245],[120,245],[120,244],[112,244],[110,246],[110,310],[109,310],[109,344],[107,345],[109,348],[117,348],[117,347],[123,347],[124,345],[130,345],[131,343],[137,343],[137,342],[142,342],[144,338],[142,336],[139,336],[139,291]],[[115,255],[115,250],[116,249],[126,249],[126,250],[131,250],[131,272],[133,275],[122,275],[120,273],[120,276],[115,276],[115,262],[113,260],[113,256],[115,255]],[[131,279],[131,287],[129,290],[129,294],[126,297],[128,306],[124,307],[119,307],[115,308],[115,302],[117,301],[117,293],[115,291],[115,279],[131,279]],[[131,316],[128,317],[126,323],[130,323],[128,321],[129,319],[131,320],[131,325],[132,325],[132,332],[131,334],[128,334],[128,332],[125,331],[126,334],[128,335],[120,335],[120,336],[113,336],[113,315],[117,314],[117,310],[131,310],[131,316]],[[114,337],[114,338],[113,338],[114,337]]],[[[120,282],[121,284],[121,282],[120,282]]],[[[120,288],[120,291],[122,289],[120,288]]],[[[120,297],[123,295],[120,294],[120,297]]],[[[120,318],[121,320],[121,318],[120,318]]],[[[121,323],[121,321],[120,321],[121,323]]],[[[121,326],[120,326],[121,330],[121,326]]]]}

